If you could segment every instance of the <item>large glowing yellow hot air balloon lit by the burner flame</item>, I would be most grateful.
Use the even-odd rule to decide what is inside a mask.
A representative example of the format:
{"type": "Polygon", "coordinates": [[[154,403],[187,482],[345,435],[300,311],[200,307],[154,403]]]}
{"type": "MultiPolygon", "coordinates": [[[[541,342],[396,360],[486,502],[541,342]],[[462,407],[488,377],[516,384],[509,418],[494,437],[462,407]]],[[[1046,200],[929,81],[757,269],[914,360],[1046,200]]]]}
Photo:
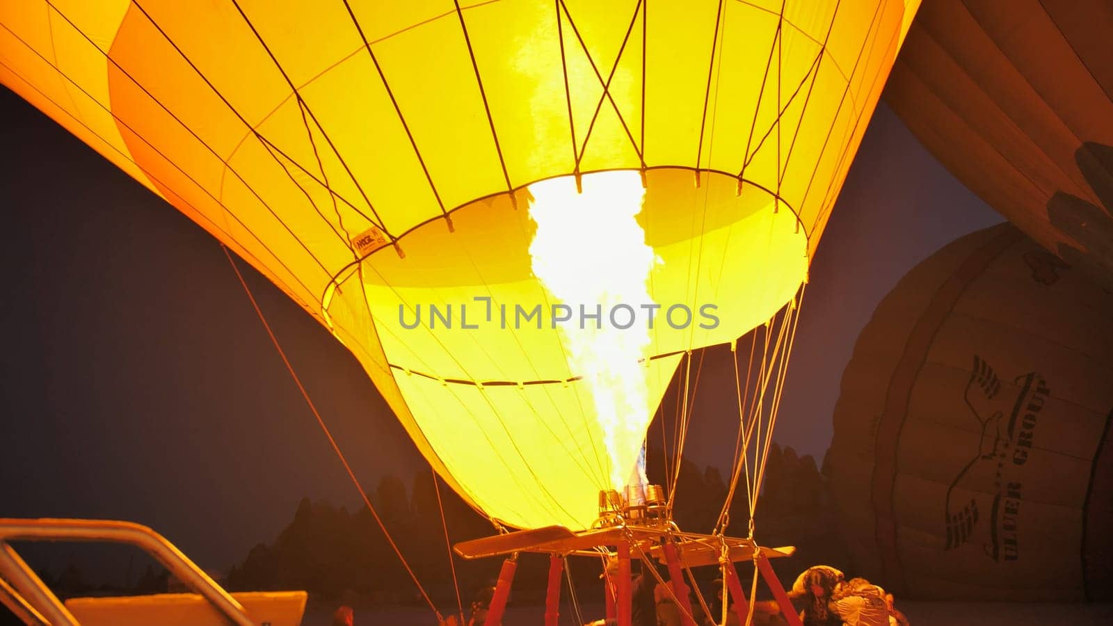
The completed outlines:
{"type": "Polygon", "coordinates": [[[681,356],[806,281],[916,4],[9,0],[0,79],[325,324],[471,503],[582,529],[681,356]],[[559,206],[538,244],[612,197],[632,247],[559,206]],[[630,250],[658,323],[611,363],[552,317],[630,250]]]}

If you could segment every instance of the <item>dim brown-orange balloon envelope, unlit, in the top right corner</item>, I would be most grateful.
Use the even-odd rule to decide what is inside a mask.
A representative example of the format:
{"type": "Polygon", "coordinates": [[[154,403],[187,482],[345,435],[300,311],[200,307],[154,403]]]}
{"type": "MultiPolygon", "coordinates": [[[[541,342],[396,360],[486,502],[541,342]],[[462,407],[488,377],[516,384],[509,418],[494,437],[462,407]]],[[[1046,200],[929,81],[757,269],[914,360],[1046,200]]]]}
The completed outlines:
{"type": "Polygon", "coordinates": [[[1113,4],[927,0],[886,87],[967,187],[1113,288],[1113,4]]]}

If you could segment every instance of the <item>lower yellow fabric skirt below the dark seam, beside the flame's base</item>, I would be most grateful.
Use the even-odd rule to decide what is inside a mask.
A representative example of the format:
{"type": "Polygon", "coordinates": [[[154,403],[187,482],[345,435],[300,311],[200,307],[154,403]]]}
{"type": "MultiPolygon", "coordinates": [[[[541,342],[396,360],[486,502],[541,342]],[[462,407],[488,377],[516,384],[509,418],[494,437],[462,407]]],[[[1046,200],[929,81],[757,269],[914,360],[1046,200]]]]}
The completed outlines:
{"type": "MultiPolygon", "coordinates": [[[[673,355],[644,369],[643,429],[679,362],[673,355]]],[[[449,472],[489,515],[524,528],[579,529],[595,519],[610,463],[582,381],[481,389],[400,371],[395,379],[449,472]]]]}

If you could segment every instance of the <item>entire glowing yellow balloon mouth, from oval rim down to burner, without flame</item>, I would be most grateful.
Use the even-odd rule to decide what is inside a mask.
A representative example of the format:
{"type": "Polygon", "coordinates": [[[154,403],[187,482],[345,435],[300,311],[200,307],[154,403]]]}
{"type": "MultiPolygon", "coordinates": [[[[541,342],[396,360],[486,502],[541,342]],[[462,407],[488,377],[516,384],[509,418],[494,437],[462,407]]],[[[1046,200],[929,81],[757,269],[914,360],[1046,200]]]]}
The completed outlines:
{"type": "MultiPolygon", "coordinates": [[[[585,190],[594,174],[582,175],[585,190]]],[[[662,260],[652,266],[648,290],[661,310],[639,362],[648,393],[637,421],[648,424],[654,413],[649,407],[660,403],[683,354],[728,344],[791,301],[806,275],[808,241],[796,231],[792,212],[785,205],[777,209],[768,192],[745,185],[738,195],[733,175],[702,172],[697,187],[692,169],[650,168],[642,187],[637,169],[618,174],[643,194],[632,222],[643,231],[642,244],[662,260]],[[702,253],[695,252],[700,248],[702,253]],[[702,270],[689,262],[698,254],[702,270]],[[718,307],[706,310],[717,320],[701,316],[702,304],[718,307]],[[676,326],[668,322],[671,306],[676,326]]],[[[575,194],[574,177],[567,180],[575,194]]],[[[594,402],[587,394],[587,372],[570,366],[560,330],[550,323],[552,295],[534,273],[530,246],[538,225],[530,217],[531,194],[522,187],[513,196],[503,190],[469,202],[450,212],[451,231],[443,217],[431,216],[398,239],[404,258],[387,246],[338,274],[326,313],[334,334],[384,394],[393,394],[392,405],[422,453],[442,464],[477,508],[499,511],[506,526],[518,528],[560,519],[585,529],[598,517],[599,490],[644,488],[640,476],[633,478],[638,462],[628,460],[640,456],[644,429],[639,426],[641,432],[629,436],[620,460],[608,462],[594,402]],[[506,305],[505,317],[501,304],[506,305]],[[516,324],[515,304],[524,313],[516,324]],[[539,304],[544,315],[540,327],[536,316],[526,320],[539,304]],[[503,443],[511,418],[515,432],[523,433],[513,448],[503,443]],[[464,437],[472,444],[461,450],[464,437]],[[487,470],[489,459],[516,467],[519,453],[531,461],[545,459],[530,470],[544,485],[540,495],[515,482],[513,477],[525,470],[509,472],[505,480],[493,479],[487,470]],[[511,500],[510,493],[521,496],[511,500]],[[546,498],[562,508],[544,503],[546,498]],[[534,506],[554,510],[542,516],[530,509],[534,506]]],[[[563,245],[578,252],[581,239],[593,236],[584,231],[592,228],[598,228],[594,222],[580,224],[563,245]]],[[[604,323],[610,323],[609,313],[603,313],[604,323]]],[[[575,315],[578,322],[579,311],[575,315]]],[[[624,324],[628,316],[615,310],[617,322],[624,324]]]]}

